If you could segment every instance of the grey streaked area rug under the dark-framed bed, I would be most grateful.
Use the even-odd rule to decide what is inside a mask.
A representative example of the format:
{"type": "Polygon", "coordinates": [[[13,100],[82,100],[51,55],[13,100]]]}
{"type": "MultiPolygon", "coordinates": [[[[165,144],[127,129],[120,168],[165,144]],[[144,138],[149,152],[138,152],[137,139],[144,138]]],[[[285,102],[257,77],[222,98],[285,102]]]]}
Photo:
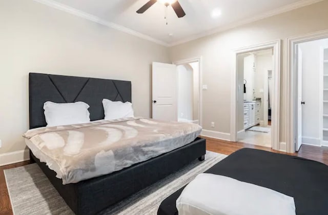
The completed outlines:
{"type": "MultiPolygon", "coordinates": [[[[207,151],[205,161],[193,161],[154,185],[99,214],[157,214],[160,203],[227,155],[207,151]]],[[[74,214],[37,164],[5,170],[14,214],[74,214]]]]}

